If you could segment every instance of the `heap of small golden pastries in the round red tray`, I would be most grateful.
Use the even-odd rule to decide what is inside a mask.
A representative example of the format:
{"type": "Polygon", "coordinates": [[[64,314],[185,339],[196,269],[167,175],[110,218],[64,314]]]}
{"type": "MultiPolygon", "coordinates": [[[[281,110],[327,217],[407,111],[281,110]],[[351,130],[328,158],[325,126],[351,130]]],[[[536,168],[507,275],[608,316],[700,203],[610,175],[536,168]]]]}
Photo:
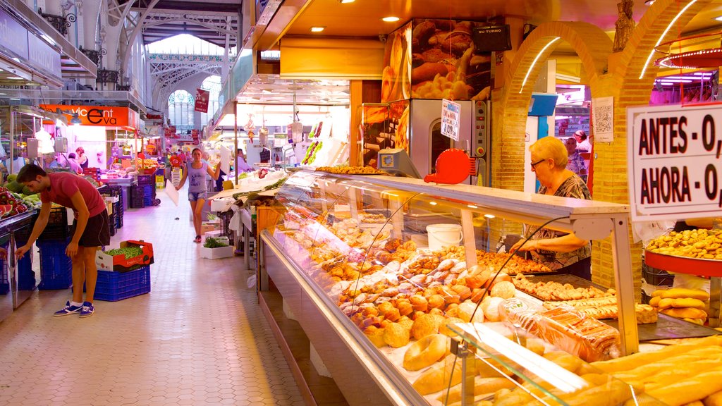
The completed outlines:
{"type": "Polygon", "coordinates": [[[700,259],[722,259],[722,230],[671,231],[655,238],[647,251],[656,254],[685,256],[700,259]]]}

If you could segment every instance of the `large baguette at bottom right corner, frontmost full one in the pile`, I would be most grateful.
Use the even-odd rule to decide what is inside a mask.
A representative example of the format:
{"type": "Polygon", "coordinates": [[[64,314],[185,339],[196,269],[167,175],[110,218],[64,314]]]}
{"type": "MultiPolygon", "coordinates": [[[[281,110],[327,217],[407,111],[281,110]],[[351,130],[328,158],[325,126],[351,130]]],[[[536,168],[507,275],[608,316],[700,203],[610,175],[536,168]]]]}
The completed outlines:
{"type": "Polygon", "coordinates": [[[685,403],[704,399],[716,392],[722,391],[722,379],[719,379],[722,368],[706,371],[688,381],[677,382],[677,384],[664,385],[651,389],[647,393],[657,399],[664,399],[670,406],[682,406],[685,403]]]}

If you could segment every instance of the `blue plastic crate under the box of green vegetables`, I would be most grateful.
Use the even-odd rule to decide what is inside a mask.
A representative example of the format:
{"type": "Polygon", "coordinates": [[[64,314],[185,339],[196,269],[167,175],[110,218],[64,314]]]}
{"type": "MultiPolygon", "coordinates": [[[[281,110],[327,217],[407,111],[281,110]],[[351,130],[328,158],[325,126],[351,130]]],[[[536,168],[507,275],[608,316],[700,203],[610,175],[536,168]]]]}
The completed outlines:
{"type": "Polygon", "coordinates": [[[131,272],[98,271],[95,298],[99,301],[122,301],[150,292],[150,267],[131,272]]]}

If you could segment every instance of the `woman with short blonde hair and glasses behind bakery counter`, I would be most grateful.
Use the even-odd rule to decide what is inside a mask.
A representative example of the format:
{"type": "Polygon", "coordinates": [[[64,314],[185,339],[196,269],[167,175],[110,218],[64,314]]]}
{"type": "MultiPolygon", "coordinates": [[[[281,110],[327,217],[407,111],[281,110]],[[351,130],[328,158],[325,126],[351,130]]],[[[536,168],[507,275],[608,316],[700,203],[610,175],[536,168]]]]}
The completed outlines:
{"type": "MultiPolygon", "coordinates": [[[[536,193],[591,200],[584,181],[566,168],[567,149],[559,139],[555,137],[539,139],[531,144],[529,152],[531,152],[531,171],[541,183],[536,193]]],[[[533,230],[527,232],[531,233],[533,230]]],[[[552,271],[591,280],[591,244],[573,233],[567,234],[542,228],[531,236],[528,242],[524,243],[524,239],[519,240],[510,251],[529,251],[534,259],[547,265],[552,271]]]]}

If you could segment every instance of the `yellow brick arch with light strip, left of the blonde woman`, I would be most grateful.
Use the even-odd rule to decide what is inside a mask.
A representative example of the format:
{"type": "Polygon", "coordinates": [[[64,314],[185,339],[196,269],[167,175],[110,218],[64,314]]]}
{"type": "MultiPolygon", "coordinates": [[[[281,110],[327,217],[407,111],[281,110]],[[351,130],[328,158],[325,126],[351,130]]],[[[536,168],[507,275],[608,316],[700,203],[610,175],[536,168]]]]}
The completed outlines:
{"type": "Polygon", "coordinates": [[[544,61],[563,42],[569,43],[580,57],[590,79],[592,95],[595,95],[594,85],[599,76],[605,73],[612,52],[609,36],[587,22],[546,22],[536,27],[521,44],[516,58],[510,64],[502,103],[500,108],[495,109],[500,129],[495,131],[492,145],[495,151],[492,154],[494,187],[523,190],[526,170],[523,162],[524,133],[531,91],[544,61]]]}

